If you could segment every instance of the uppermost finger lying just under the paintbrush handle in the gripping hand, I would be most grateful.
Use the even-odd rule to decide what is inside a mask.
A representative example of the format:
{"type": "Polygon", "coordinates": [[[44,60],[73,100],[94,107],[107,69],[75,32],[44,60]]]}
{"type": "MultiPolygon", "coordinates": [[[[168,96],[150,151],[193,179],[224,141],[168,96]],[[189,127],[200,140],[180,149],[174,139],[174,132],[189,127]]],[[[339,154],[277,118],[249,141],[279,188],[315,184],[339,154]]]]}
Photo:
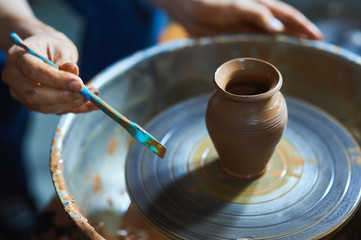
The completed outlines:
{"type": "Polygon", "coordinates": [[[31,80],[57,89],[81,91],[83,82],[78,76],[55,69],[25,51],[21,51],[17,55],[16,65],[31,80]]]}

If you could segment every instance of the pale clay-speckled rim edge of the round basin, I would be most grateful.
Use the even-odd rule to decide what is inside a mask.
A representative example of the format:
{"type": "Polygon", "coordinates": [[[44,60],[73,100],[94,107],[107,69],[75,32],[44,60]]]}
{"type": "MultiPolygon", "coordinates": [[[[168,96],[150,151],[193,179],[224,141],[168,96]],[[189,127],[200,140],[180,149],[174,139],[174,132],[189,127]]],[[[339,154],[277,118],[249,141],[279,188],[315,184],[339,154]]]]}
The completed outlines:
{"type": "MultiPolygon", "coordinates": [[[[149,59],[157,54],[176,51],[179,49],[193,47],[193,46],[205,46],[217,43],[227,42],[242,42],[242,41],[254,41],[254,42],[279,42],[294,44],[299,46],[305,46],[307,48],[313,48],[316,50],[322,50],[331,54],[337,55],[349,62],[356,63],[361,67],[361,57],[335,45],[320,42],[300,40],[287,36],[269,36],[269,35],[229,35],[229,36],[217,36],[217,37],[205,37],[200,39],[180,39],[167,43],[159,44],[149,49],[139,51],[123,60],[120,60],[108,68],[104,69],[100,74],[96,75],[92,84],[101,90],[101,87],[107,84],[114,76],[118,76],[127,71],[132,66],[139,62],[149,59]]],[[[66,188],[66,182],[64,182],[64,176],[62,174],[62,164],[66,164],[66,159],[62,159],[62,145],[64,139],[67,138],[69,126],[74,121],[76,115],[66,114],[62,116],[57,125],[57,131],[54,134],[53,144],[51,147],[50,156],[50,168],[53,184],[59,199],[61,200],[65,211],[74,220],[77,226],[92,239],[104,239],[98,234],[94,228],[88,223],[87,219],[80,213],[78,206],[71,199],[71,193],[66,188]],[[56,166],[56,167],[54,167],[56,166]]],[[[355,209],[354,209],[355,210],[355,209]]],[[[353,212],[350,212],[352,215],[353,212]]]]}

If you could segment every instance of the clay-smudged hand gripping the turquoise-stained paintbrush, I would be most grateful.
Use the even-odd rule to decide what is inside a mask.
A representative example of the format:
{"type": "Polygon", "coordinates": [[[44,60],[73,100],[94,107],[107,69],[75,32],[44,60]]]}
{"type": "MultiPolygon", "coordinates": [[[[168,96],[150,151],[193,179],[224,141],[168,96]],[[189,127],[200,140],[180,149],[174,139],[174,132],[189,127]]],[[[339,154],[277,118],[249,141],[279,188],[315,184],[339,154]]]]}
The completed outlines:
{"type": "MultiPolygon", "coordinates": [[[[24,40],[35,52],[60,67],[58,70],[18,46],[12,46],[2,72],[10,94],[27,109],[42,113],[84,113],[98,109],[85,100],[80,91],[82,80],[77,76],[78,51],[62,33],[52,29],[24,40]]],[[[93,92],[97,90],[90,88],[93,92]]]]}

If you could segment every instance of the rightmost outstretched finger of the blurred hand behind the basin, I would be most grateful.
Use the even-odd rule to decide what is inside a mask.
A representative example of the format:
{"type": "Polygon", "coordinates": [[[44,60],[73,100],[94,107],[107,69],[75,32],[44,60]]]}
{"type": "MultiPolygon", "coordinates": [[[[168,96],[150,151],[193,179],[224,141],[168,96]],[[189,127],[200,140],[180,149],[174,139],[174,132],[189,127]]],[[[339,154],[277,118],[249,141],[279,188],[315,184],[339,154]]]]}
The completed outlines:
{"type": "Polygon", "coordinates": [[[286,26],[286,32],[293,32],[293,35],[304,36],[320,40],[323,38],[321,31],[309,21],[301,12],[292,6],[274,0],[260,0],[270,8],[272,13],[286,26]]]}

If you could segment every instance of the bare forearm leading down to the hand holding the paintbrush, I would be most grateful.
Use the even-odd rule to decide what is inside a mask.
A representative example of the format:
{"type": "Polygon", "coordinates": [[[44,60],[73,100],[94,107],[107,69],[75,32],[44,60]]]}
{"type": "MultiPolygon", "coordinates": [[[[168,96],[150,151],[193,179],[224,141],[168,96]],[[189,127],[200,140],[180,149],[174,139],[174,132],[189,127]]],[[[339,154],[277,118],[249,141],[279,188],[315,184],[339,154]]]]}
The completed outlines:
{"type": "Polygon", "coordinates": [[[53,29],[38,20],[26,0],[0,0],[0,49],[7,51],[11,46],[9,35],[18,33],[27,38],[37,32],[53,29]]]}

